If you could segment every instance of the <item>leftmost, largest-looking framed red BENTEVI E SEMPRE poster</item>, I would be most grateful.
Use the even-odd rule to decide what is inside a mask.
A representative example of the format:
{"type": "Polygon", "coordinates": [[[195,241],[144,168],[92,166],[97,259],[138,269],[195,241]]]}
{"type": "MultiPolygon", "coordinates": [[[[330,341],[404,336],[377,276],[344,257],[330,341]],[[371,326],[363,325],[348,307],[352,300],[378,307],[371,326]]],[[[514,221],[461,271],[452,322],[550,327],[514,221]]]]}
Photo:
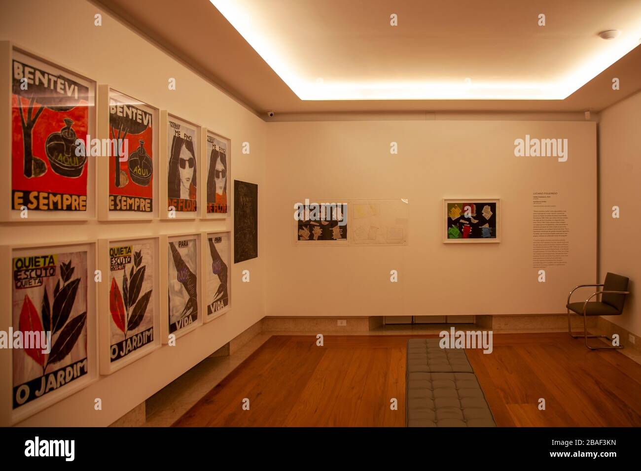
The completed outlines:
{"type": "Polygon", "coordinates": [[[10,117],[0,128],[11,156],[3,220],[93,219],[96,165],[87,138],[96,135],[95,82],[8,42],[0,48],[0,64],[11,71],[1,82],[11,97],[0,108],[10,117]]]}

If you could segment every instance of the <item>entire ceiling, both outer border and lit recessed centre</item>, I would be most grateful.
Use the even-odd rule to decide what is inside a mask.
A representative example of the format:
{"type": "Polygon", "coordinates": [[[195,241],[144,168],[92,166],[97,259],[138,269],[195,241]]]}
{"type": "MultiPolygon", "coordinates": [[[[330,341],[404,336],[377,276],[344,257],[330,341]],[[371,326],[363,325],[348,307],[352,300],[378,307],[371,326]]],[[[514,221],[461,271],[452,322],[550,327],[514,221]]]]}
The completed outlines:
{"type": "Polygon", "coordinates": [[[641,89],[641,0],[93,1],[263,117],[598,112],[641,89]]]}

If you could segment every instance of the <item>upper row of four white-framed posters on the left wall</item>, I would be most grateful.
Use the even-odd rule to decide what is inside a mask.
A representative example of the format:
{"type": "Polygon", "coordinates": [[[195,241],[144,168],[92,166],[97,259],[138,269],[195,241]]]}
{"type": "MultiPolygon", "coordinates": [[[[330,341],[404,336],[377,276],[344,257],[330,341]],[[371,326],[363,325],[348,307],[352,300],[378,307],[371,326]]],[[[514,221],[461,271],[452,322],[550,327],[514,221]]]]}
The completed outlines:
{"type": "Polygon", "coordinates": [[[0,69],[0,220],[229,217],[229,138],[8,41],[0,69]]]}

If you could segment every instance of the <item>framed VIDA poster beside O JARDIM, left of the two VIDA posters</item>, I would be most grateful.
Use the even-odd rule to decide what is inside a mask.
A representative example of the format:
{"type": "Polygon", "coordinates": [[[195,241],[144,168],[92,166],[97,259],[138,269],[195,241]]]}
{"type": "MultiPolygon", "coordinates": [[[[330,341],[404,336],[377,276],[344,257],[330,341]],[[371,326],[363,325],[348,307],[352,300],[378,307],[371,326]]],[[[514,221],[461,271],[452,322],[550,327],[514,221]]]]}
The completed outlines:
{"type": "Polygon", "coordinates": [[[201,234],[168,236],[167,317],[163,319],[163,342],[178,338],[203,323],[201,315],[201,234]]]}

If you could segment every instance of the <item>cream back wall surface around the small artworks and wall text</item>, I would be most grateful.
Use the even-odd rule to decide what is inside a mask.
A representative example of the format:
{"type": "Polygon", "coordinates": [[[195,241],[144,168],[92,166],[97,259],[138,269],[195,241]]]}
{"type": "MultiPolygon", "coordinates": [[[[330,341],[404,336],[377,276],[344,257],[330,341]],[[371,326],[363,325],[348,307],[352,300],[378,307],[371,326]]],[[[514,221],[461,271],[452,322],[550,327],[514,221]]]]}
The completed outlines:
{"type": "Polygon", "coordinates": [[[570,288],[595,282],[594,122],[276,122],[267,138],[271,316],[565,313],[570,288]],[[567,139],[567,161],[515,156],[526,135],[567,139]],[[556,193],[569,228],[566,263],[545,267],[544,283],[533,263],[535,192],[556,193]],[[409,243],[296,245],[292,202],[306,198],[406,198],[409,243]],[[444,244],[443,198],[500,198],[501,242],[444,244]]]}

